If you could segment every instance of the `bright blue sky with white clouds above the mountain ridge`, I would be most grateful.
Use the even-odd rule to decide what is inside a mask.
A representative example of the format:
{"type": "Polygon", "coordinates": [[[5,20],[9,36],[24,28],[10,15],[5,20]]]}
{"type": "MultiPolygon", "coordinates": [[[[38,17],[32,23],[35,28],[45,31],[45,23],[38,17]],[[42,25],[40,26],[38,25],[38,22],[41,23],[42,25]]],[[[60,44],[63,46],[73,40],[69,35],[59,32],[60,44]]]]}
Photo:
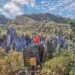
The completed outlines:
{"type": "Polygon", "coordinates": [[[8,18],[34,13],[75,18],[75,0],[0,0],[0,14],[8,18]]]}

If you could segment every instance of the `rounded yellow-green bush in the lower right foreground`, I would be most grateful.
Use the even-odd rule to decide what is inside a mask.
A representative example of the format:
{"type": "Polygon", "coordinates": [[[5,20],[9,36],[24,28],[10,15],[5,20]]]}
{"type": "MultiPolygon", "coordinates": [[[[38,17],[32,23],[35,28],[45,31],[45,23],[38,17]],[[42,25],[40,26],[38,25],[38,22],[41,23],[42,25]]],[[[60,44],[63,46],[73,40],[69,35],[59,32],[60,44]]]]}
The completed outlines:
{"type": "Polygon", "coordinates": [[[75,75],[75,54],[65,52],[43,64],[45,75],[75,75]]]}

